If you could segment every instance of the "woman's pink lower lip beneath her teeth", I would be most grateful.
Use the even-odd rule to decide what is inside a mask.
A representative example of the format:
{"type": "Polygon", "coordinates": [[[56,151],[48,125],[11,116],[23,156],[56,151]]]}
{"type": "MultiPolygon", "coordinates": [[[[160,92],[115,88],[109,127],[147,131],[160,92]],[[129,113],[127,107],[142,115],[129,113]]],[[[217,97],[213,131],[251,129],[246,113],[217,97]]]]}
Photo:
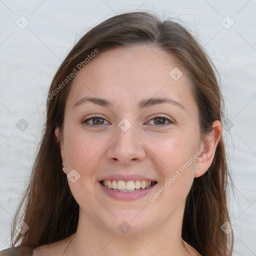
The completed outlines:
{"type": "Polygon", "coordinates": [[[119,192],[111,188],[107,188],[103,186],[101,183],[99,183],[103,191],[110,197],[114,199],[119,199],[119,200],[136,200],[138,198],[141,198],[148,194],[152,188],[154,187],[155,184],[149,186],[148,188],[145,189],[135,189],[134,192],[119,192]]]}

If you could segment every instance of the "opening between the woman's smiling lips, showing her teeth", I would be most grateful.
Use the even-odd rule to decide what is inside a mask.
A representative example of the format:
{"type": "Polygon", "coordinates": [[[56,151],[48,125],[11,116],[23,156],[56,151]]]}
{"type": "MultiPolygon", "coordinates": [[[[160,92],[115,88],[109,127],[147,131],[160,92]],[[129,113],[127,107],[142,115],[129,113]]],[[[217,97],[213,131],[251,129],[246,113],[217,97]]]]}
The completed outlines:
{"type": "Polygon", "coordinates": [[[109,189],[119,191],[119,192],[134,192],[138,190],[144,190],[154,184],[156,181],[148,180],[100,180],[99,183],[109,189]]]}

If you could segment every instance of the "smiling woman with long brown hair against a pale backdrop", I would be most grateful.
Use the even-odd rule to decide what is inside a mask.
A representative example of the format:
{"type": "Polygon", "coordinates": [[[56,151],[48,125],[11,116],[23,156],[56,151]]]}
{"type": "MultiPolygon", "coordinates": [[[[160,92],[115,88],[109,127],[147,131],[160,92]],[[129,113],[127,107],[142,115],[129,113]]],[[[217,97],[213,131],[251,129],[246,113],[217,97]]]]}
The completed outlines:
{"type": "Polygon", "coordinates": [[[231,255],[212,66],[187,29],[146,12],[88,31],[52,80],[1,255],[231,255]]]}

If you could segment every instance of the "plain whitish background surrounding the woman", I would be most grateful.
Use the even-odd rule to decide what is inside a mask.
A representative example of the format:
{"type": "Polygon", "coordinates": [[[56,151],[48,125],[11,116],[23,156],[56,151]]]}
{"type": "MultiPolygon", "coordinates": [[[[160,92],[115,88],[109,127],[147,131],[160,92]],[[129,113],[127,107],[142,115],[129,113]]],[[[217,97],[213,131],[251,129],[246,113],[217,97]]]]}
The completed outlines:
{"type": "Polygon", "coordinates": [[[10,245],[12,216],[40,140],[54,72],[85,31],[129,10],[185,21],[216,65],[229,119],[229,132],[223,135],[235,183],[230,197],[233,255],[256,255],[255,0],[0,0],[0,249],[10,245]],[[24,29],[15,23],[21,15],[29,21],[24,29]],[[223,19],[226,15],[231,19],[223,19]],[[226,29],[222,19],[226,28],[232,20],[234,24],[226,29]],[[24,131],[16,127],[21,118],[28,123],[24,131]]]}

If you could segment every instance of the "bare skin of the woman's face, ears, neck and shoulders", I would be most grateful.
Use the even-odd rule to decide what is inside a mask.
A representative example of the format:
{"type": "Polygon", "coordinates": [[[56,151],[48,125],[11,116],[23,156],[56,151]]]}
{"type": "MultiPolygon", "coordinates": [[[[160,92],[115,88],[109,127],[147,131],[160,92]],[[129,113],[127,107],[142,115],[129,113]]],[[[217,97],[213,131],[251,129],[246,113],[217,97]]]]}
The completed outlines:
{"type": "Polygon", "coordinates": [[[68,179],[79,204],[78,226],[69,247],[71,237],[40,246],[33,255],[200,255],[182,243],[185,198],[193,179],[210,166],[222,127],[214,121],[211,134],[201,140],[198,109],[185,72],[178,80],[169,75],[175,66],[166,52],[140,45],[107,50],[75,76],[63,134],[57,127],[55,135],[67,166],[64,173],[75,169],[80,175],[74,183],[68,179]],[[112,106],[92,102],[74,106],[85,96],[107,99],[112,106]],[[138,108],[138,102],[156,96],[178,104],[138,108]],[[156,116],[171,122],[165,119],[160,126],[156,116]],[[123,118],[131,124],[126,131],[118,126],[123,118]],[[191,157],[189,166],[176,174],[191,157]],[[116,173],[139,174],[157,183],[138,199],[114,199],[99,180],[116,173]],[[155,195],[162,187],[164,192],[155,195]],[[130,227],[125,234],[118,228],[123,221],[130,227]]]}

